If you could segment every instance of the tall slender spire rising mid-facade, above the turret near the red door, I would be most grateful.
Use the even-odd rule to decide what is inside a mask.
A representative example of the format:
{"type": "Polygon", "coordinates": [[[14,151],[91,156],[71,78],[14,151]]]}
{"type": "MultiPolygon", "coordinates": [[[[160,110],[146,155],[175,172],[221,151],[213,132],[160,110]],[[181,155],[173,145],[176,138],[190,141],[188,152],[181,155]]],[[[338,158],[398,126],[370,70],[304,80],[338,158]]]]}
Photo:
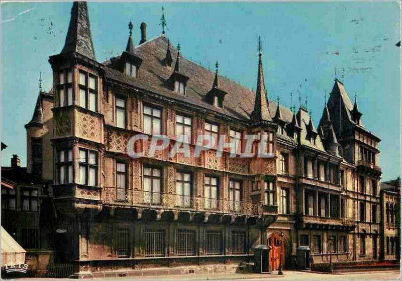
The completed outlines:
{"type": "Polygon", "coordinates": [[[265,90],[264,73],[262,70],[262,45],[261,37],[258,38],[258,76],[257,76],[257,90],[255,93],[254,110],[251,113],[251,118],[254,122],[262,120],[271,120],[268,110],[268,98],[265,90]]]}

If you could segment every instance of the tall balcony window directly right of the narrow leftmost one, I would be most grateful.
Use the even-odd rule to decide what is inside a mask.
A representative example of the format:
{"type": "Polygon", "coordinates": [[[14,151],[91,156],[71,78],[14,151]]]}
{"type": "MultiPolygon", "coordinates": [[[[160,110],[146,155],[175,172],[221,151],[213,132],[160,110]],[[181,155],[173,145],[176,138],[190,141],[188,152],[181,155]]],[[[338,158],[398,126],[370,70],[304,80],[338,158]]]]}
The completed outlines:
{"type": "Polygon", "coordinates": [[[144,202],[161,203],[162,171],[158,168],[144,167],[144,202]]]}

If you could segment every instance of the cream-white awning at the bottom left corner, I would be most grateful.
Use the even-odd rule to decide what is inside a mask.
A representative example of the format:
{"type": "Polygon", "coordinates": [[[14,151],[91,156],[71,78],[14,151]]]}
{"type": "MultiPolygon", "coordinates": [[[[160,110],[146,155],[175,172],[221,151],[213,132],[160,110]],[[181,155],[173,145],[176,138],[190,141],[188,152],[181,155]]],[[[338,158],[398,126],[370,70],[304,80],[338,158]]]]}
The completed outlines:
{"type": "Polygon", "coordinates": [[[23,247],[3,228],[2,226],[2,267],[11,264],[25,263],[25,253],[23,247]]]}

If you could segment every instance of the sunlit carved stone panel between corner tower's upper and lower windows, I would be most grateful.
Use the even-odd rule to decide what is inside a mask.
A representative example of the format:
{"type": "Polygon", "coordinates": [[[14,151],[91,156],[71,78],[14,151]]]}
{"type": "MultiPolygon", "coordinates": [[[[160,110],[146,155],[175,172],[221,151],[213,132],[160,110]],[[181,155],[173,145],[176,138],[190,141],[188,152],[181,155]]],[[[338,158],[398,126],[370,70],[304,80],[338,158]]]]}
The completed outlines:
{"type": "Polygon", "coordinates": [[[77,112],[76,114],[77,135],[84,139],[99,142],[100,128],[102,127],[99,119],[82,112],[77,112]]]}

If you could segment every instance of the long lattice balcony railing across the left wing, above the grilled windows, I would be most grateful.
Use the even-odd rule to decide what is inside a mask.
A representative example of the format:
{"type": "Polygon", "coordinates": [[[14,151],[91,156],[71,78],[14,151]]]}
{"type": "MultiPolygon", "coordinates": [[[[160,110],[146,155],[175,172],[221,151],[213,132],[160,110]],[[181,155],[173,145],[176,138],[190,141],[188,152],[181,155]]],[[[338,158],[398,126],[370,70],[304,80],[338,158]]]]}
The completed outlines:
{"type": "Polygon", "coordinates": [[[102,198],[104,203],[107,204],[123,204],[138,207],[153,206],[165,209],[188,209],[246,215],[262,215],[263,211],[262,203],[116,187],[103,187],[102,198]]]}

